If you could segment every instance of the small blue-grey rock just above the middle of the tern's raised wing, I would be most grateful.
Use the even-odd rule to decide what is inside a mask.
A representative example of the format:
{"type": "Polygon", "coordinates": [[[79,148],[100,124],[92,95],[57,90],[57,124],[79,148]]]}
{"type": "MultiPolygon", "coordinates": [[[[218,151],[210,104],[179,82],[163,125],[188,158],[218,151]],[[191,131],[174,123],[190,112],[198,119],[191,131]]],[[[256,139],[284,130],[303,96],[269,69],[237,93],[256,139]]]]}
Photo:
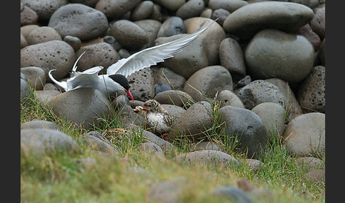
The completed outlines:
{"type": "Polygon", "coordinates": [[[157,38],[160,37],[170,37],[172,35],[178,35],[186,33],[185,24],[182,18],[178,16],[171,16],[167,18],[160,26],[157,38]]]}

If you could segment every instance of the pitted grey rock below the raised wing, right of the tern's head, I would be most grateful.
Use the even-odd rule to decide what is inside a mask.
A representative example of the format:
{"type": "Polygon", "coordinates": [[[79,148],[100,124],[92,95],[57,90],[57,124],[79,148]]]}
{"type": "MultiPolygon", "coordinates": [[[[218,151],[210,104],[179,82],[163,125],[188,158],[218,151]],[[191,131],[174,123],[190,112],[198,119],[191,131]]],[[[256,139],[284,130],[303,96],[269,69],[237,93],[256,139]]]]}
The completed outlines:
{"type": "Polygon", "coordinates": [[[133,72],[127,77],[127,79],[133,99],[147,101],[155,97],[153,73],[150,70],[150,67],[146,67],[138,72],[133,72]]]}

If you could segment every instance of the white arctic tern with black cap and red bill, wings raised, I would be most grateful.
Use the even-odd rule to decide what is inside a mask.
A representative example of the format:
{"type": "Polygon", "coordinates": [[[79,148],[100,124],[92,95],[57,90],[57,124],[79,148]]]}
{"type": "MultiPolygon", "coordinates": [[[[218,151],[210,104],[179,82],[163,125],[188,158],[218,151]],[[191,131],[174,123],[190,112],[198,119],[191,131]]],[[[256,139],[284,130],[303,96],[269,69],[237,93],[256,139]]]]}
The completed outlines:
{"type": "MultiPolygon", "coordinates": [[[[214,21],[212,21],[212,23],[214,23],[214,21]]],[[[113,65],[109,66],[106,69],[106,74],[104,75],[98,75],[99,71],[103,69],[102,66],[91,67],[83,72],[77,71],[77,62],[85,52],[82,53],[75,61],[75,64],[72,67],[70,78],[67,79],[67,81],[57,81],[52,75],[52,72],[55,69],[50,70],[48,75],[50,79],[55,82],[55,84],[65,89],[66,92],[82,87],[91,87],[94,89],[99,89],[104,95],[107,96],[108,94],[112,95],[116,91],[123,90],[126,92],[126,94],[128,94],[128,97],[134,101],[131,92],[129,92],[127,77],[133,72],[142,70],[145,67],[150,67],[151,65],[157,65],[158,62],[163,62],[165,59],[173,57],[173,55],[180,52],[182,48],[185,48],[201,33],[206,31],[207,28],[212,25],[212,23],[209,23],[209,25],[195,33],[186,35],[169,43],[146,48],[127,58],[122,58],[113,65]]]]}

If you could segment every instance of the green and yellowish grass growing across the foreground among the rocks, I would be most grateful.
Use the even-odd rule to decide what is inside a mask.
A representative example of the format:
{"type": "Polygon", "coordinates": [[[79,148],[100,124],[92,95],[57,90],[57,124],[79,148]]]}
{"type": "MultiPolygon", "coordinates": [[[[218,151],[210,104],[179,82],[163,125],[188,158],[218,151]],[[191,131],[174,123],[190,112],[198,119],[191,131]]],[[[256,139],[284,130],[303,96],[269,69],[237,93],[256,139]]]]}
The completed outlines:
{"type": "MultiPolygon", "coordinates": [[[[248,180],[255,188],[267,189],[271,195],[256,197],[253,202],[325,202],[323,184],[302,179],[302,170],[276,132],[270,138],[267,153],[261,155],[264,165],[257,172],[246,165],[246,156],[236,149],[234,137],[224,136],[218,119],[217,103],[214,108],[214,124],[207,129],[205,137],[219,143],[221,150],[240,162],[239,168],[229,170],[219,165],[183,165],[166,159],[152,158],[140,153],[137,146],[144,142],[141,135],[114,138],[121,155],[104,157],[80,144],[81,150],[68,154],[57,153],[46,156],[21,155],[21,202],[145,202],[152,185],[165,180],[183,178],[182,199],[184,202],[222,202],[208,194],[216,187],[234,186],[239,180],[248,180]],[[92,165],[82,165],[82,158],[93,158],[92,165]],[[143,168],[147,173],[135,173],[130,168],[143,168]]],[[[58,118],[45,105],[35,99],[21,101],[21,124],[33,119],[53,121],[60,129],[79,143],[79,138],[88,131],[104,133],[107,129],[121,127],[118,115],[111,120],[102,120],[98,127],[80,129],[70,122],[58,118]]],[[[176,141],[175,153],[192,150],[188,141],[176,141]]],[[[320,158],[324,161],[324,155],[320,158]]]]}

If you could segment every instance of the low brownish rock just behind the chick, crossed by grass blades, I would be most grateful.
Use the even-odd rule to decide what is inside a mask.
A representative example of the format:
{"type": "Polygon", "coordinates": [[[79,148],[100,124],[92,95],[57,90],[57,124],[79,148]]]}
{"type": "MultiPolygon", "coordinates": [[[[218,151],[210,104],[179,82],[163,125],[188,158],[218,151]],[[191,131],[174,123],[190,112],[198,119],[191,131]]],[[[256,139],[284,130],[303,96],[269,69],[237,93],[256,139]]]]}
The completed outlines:
{"type": "Polygon", "coordinates": [[[190,96],[190,94],[179,90],[160,92],[159,94],[155,95],[155,98],[153,99],[158,101],[160,104],[172,104],[185,109],[187,109],[191,105],[190,102],[193,101],[193,98],[190,96]]]}

